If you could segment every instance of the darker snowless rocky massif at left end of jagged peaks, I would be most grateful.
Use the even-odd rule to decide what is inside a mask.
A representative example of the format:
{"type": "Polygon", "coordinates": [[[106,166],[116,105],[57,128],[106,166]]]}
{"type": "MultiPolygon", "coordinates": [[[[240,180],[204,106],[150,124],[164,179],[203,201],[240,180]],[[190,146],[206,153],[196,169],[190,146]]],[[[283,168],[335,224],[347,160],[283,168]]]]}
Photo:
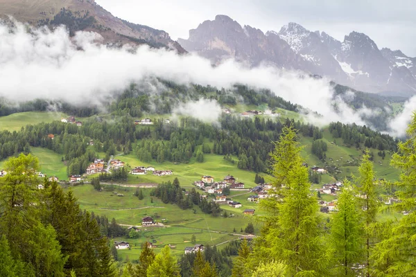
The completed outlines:
{"type": "Polygon", "coordinates": [[[271,62],[288,69],[311,69],[313,65],[297,55],[275,33],[266,33],[250,26],[242,27],[225,15],[204,21],[189,31],[189,39],[177,40],[187,51],[207,57],[214,64],[233,57],[257,66],[271,62]]]}

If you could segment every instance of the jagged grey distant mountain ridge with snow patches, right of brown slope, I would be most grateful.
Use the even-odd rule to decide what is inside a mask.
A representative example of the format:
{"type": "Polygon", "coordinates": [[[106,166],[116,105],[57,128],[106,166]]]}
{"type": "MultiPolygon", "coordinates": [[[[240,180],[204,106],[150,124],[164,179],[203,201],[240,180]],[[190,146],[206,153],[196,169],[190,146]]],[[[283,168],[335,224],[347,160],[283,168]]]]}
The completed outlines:
{"type": "Polygon", "coordinates": [[[189,39],[177,40],[185,50],[207,57],[214,64],[227,58],[250,66],[274,64],[330,78],[362,91],[416,93],[416,58],[383,48],[363,33],[352,32],[343,42],[324,32],[311,32],[296,23],[279,32],[263,33],[241,26],[226,15],[204,21],[189,31],[189,39]]]}

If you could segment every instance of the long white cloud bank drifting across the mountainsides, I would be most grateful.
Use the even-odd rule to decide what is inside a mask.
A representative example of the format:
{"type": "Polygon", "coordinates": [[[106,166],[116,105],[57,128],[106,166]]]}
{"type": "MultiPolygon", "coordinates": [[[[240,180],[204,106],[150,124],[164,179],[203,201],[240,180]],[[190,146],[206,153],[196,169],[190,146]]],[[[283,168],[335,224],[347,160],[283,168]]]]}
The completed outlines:
{"type": "MultiPolygon", "coordinates": [[[[196,55],[177,55],[148,46],[136,51],[128,47],[107,48],[94,43],[101,39],[100,35],[78,32],[70,38],[63,27],[28,32],[22,24],[13,29],[0,25],[0,37],[0,96],[10,100],[47,98],[88,105],[108,100],[114,91],[122,91],[130,82],[156,76],[180,84],[193,82],[229,88],[241,83],[270,89],[285,100],[321,114],[322,117],[313,118],[315,123],[341,121],[362,125],[361,115],[368,113],[367,109],[354,111],[340,98],[335,100],[335,111],[329,81],[300,78],[297,72],[266,66],[248,69],[233,61],[213,67],[209,60],[196,55]]],[[[193,103],[198,112],[189,115],[198,118],[200,112],[220,114],[218,104],[209,103],[208,107],[213,109],[209,111],[199,109],[198,105],[204,106],[201,103],[193,103]]],[[[177,111],[184,113],[185,109],[180,108],[183,107],[177,111]]]]}

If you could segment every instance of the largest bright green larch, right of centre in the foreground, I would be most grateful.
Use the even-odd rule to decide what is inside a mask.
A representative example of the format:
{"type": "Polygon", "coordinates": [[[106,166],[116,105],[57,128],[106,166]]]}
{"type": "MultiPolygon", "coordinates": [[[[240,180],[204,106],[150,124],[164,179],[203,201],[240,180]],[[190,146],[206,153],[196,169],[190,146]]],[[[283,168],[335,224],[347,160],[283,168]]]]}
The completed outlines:
{"type": "Polygon", "coordinates": [[[269,260],[284,262],[291,276],[322,276],[327,271],[328,256],[318,199],[310,191],[309,173],[303,166],[295,129],[284,127],[282,131],[270,155],[275,197],[266,206],[269,211],[273,207],[271,219],[275,222],[266,221],[268,230],[260,251],[269,260]]]}

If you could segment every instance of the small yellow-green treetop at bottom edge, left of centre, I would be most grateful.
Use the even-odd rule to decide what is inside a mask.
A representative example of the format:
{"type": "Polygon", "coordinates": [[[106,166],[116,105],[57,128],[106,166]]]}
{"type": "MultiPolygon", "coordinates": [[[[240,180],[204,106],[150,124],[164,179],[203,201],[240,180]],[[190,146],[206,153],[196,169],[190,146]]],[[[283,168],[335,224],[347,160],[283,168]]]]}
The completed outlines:
{"type": "Polygon", "coordinates": [[[176,258],[171,256],[171,249],[166,245],[162,251],[156,255],[155,261],[148,267],[148,277],[179,277],[180,269],[176,258]]]}

